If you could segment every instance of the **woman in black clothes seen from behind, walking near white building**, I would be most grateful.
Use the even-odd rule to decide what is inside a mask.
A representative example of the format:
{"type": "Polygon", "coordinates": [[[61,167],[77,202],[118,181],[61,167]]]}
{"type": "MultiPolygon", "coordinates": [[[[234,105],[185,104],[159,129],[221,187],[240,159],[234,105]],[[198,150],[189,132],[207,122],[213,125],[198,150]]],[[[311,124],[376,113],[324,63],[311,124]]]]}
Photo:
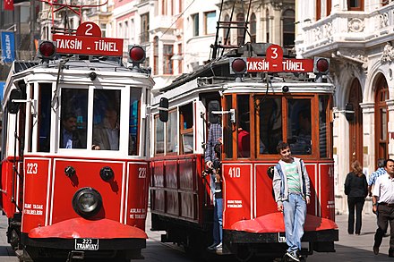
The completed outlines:
{"type": "Polygon", "coordinates": [[[345,180],[345,194],[347,195],[347,207],[349,216],[347,219],[347,232],[359,235],[362,225],[362,211],[365,198],[368,194],[368,184],[366,176],[360,162],[355,160],[352,163],[352,172],[347,173],[345,180]]]}

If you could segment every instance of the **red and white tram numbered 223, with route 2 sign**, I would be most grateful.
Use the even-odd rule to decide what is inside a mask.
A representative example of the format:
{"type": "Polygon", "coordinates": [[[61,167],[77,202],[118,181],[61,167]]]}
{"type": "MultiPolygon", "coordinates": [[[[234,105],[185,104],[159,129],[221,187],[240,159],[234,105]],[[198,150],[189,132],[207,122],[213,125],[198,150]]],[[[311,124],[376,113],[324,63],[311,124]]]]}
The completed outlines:
{"type": "Polygon", "coordinates": [[[40,42],[40,59],[15,61],[4,87],[1,201],[21,261],[128,261],[146,247],[145,51],[131,46],[127,66],[123,40],[91,22],[77,32],[81,48],[62,46],[74,35],[40,42]]]}

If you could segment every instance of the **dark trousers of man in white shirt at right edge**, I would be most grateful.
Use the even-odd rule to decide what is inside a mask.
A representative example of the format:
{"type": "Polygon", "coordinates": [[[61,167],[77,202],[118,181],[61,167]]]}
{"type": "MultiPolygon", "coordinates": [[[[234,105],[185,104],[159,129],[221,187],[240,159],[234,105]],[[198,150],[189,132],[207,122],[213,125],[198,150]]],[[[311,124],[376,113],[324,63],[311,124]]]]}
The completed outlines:
{"type": "Polygon", "coordinates": [[[390,223],[390,251],[394,252],[394,207],[378,205],[378,229],[375,233],[374,247],[381,246],[381,240],[390,223]]]}

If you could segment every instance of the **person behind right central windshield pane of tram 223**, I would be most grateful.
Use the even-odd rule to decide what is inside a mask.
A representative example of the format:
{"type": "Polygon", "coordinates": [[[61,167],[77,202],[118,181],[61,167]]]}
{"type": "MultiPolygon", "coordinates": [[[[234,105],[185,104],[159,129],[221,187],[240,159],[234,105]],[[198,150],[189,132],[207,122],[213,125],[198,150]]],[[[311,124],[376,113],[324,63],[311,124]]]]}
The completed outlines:
{"type": "Polygon", "coordinates": [[[118,113],[115,108],[106,109],[103,121],[93,129],[93,150],[118,150],[119,149],[119,123],[118,113]]]}

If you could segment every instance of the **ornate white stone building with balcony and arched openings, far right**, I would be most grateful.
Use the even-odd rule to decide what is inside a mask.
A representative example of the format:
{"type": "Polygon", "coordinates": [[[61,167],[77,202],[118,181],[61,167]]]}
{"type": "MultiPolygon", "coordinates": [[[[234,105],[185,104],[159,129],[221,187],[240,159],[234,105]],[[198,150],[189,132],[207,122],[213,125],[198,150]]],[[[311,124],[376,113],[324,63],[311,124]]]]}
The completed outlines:
{"type": "Polygon", "coordinates": [[[296,54],[330,58],[336,207],[346,213],[351,163],[368,177],[378,158],[394,158],[394,1],[303,0],[295,13],[296,54]]]}

